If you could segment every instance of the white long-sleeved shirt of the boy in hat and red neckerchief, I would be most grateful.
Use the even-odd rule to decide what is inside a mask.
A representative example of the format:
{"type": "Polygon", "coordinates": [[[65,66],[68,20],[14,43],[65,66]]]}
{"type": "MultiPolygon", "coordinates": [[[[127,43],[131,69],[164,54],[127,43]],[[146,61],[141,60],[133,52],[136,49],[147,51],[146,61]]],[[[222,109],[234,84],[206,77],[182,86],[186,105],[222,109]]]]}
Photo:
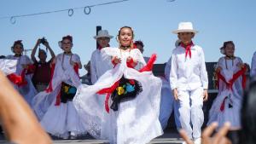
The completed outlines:
{"type": "Polygon", "coordinates": [[[170,84],[172,89],[208,89],[205,55],[200,46],[191,47],[191,58],[185,57],[185,49],[177,46],[172,51],[170,84]]]}

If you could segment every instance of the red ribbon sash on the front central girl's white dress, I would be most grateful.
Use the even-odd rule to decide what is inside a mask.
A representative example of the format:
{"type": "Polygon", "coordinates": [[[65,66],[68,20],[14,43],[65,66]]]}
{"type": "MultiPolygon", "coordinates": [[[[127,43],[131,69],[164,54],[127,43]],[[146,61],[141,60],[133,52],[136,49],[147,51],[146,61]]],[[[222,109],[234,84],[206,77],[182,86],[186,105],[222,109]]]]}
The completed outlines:
{"type": "MultiPolygon", "coordinates": [[[[148,64],[141,68],[139,72],[149,72],[152,71],[152,68],[154,66],[154,61],[156,60],[156,55],[151,55],[150,59],[148,60],[148,64]]],[[[128,66],[128,65],[127,65],[128,66]]],[[[135,84],[134,80],[130,79],[131,84],[135,84]]],[[[119,80],[116,81],[111,87],[104,88],[96,92],[96,94],[99,95],[104,95],[107,94],[106,99],[105,99],[105,110],[109,113],[109,106],[108,106],[108,101],[110,95],[113,93],[113,90],[116,89],[119,86],[119,80]]]]}

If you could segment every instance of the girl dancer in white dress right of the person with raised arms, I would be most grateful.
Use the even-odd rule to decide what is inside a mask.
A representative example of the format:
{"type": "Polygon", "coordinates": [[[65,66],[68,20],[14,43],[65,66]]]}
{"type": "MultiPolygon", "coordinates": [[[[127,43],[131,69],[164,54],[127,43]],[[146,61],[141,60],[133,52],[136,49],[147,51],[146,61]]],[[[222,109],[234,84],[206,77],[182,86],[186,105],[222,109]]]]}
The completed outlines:
{"type": "Polygon", "coordinates": [[[73,54],[73,37],[62,37],[63,53],[55,57],[55,68],[48,89],[40,92],[33,100],[33,109],[40,123],[49,134],[64,139],[73,139],[86,134],[73,107],[73,96],[79,86],[79,55],[73,54]]]}

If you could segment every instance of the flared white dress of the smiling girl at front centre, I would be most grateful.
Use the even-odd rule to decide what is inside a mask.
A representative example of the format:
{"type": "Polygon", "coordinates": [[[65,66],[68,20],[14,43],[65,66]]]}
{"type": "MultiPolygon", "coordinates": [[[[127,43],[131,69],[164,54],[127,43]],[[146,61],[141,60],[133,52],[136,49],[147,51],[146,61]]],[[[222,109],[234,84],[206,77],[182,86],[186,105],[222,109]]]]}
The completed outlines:
{"type": "MultiPolygon", "coordinates": [[[[97,139],[106,139],[111,144],[145,144],[162,135],[160,114],[161,80],[152,72],[138,72],[145,65],[143,55],[138,49],[121,51],[117,48],[104,48],[102,55],[118,56],[121,63],[105,72],[96,84],[79,86],[73,102],[88,132],[97,139]],[[138,60],[136,69],[126,66],[126,59],[131,56],[138,60]],[[143,91],[135,99],[119,103],[118,111],[106,112],[104,102],[97,101],[96,92],[112,86],[124,75],[137,80],[143,91]]],[[[111,104],[111,100],[109,101],[111,104]]]]}

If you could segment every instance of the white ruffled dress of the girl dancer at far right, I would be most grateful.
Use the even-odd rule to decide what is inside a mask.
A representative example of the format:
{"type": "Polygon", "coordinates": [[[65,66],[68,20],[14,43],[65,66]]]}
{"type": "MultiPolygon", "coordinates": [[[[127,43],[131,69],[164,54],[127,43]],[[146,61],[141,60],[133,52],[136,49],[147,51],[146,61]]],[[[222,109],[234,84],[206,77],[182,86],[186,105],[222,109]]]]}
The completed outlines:
{"type": "MultiPolygon", "coordinates": [[[[225,60],[224,57],[218,60],[218,66],[222,67],[221,74],[227,82],[240,70],[237,66],[238,63],[242,63],[238,57],[233,61],[225,60]]],[[[231,129],[240,129],[242,95],[241,77],[236,79],[236,82],[232,85],[232,89],[229,89],[222,80],[219,80],[218,95],[212,103],[207,124],[218,122],[218,127],[222,127],[225,122],[230,122],[231,129]]]]}

